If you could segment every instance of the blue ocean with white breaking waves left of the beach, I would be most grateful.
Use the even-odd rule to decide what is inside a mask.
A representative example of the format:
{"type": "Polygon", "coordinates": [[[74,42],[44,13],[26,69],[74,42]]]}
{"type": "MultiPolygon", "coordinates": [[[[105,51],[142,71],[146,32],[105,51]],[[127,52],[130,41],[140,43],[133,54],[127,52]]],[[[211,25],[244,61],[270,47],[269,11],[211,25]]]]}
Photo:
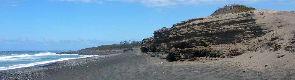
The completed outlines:
{"type": "Polygon", "coordinates": [[[0,51],[0,70],[48,64],[68,59],[79,59],[95,55],[56,54],[64,51],[0,51]]]}

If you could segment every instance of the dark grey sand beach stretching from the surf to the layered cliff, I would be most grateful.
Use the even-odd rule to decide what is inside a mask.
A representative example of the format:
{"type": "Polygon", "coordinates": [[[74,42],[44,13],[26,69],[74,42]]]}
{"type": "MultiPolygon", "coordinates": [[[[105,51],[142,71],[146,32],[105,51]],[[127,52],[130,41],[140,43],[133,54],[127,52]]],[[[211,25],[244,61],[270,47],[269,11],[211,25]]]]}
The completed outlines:
{"type": "MultiPolygon", "coordinates": [[[[158,57],[139,54],[138,51],[128,51],[106,58],[60,61],[43,67],[16,70],[14,74],[8,76],[3,76],[6,72],[2,71],[1,78],[3,80],[292,80],[295,78],[295,69],[285,70],[284,67],[251,69],[243,64],[237,64],[235,59],[238,57],[211,62],[169,62],[158,57]],[[59,67],[68,62],[80,64],[59,67]],[[31,71],[30,74],[34,75],[26,71],[31,71]],[[24,73],[27,75],[21,75],[24,73]]],[[[244,56],[248,55],[250,53],[244,56]]]]}

